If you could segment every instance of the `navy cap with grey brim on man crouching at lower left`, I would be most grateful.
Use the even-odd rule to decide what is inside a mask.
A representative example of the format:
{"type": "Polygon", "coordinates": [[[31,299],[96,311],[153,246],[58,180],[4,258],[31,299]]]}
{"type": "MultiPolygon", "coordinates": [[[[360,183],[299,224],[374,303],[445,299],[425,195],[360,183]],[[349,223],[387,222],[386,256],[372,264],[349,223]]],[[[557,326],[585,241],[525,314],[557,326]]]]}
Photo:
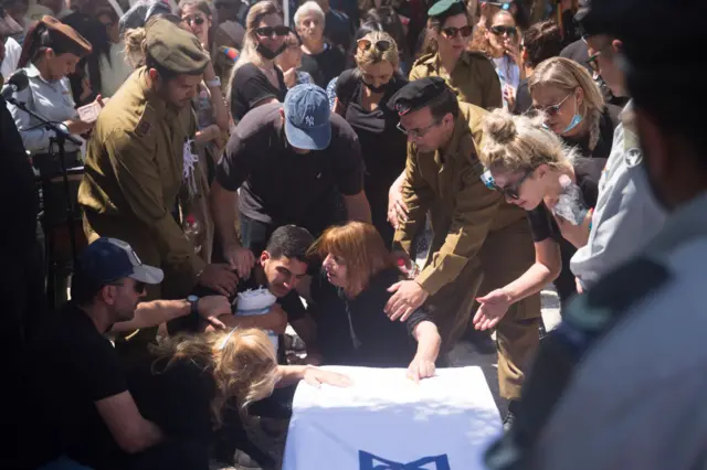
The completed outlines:
{"type": "Polygon", "coordinates": [[[133,247],[122,239],[102,237],[78,256],[74,276],[96,286],[105,286],[124,277],[146,284],[160,284],[165,275],[159,268],[144,265],[133,247]]]}

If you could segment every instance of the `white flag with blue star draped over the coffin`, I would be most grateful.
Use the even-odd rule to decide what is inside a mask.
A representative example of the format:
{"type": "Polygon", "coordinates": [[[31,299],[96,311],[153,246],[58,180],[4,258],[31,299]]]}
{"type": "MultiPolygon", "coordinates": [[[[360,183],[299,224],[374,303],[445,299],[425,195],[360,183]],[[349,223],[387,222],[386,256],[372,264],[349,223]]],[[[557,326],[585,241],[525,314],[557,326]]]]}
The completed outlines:
{"type": "Polygon", "coordinates": [[[354,386],[297,387],[283,470],[474,470],[502,432],[479,367],[420,384],[403,368],[326,367],[354,386]]]}

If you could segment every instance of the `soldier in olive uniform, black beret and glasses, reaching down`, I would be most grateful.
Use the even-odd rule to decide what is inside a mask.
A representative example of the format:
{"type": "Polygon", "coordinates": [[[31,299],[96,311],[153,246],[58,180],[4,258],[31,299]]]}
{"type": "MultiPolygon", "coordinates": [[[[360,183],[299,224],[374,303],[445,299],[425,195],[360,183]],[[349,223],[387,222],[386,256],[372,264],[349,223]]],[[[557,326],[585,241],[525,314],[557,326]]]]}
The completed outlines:
{"type": "MultiPolygon", "coordinates": [[[[403,197],[408,218],[393,244],[411,256],[430,213],[433,241],[414,281],[394,286],[389,314],[404,314],[425,300],[450,350],[467,328],[476,295],[523,274],[535,259],[524,211],[489,190],[477,158],[484,109],[454,99],[440,77],[411,82],[388,106],[409,136],[403,197]]],[[[515,305],[497,327],[500,395],[520,397],[524,366],[538,345],[539,296],[515,305]]]]}

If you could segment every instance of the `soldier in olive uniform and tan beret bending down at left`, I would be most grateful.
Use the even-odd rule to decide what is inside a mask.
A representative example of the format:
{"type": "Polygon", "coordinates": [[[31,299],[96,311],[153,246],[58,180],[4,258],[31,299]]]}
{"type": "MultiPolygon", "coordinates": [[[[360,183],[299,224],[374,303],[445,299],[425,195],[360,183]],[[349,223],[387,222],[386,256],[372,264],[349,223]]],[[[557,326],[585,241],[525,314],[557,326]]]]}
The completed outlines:
{"type": "Polygon", "coordinates": [[[235,287],[234,274],[204,266],[173,216],[196,131],[190,103],[208,61],[193,34],[163,19],[148,23],[146,66],[106,105],[88,142],[78,192],[84,231],[89,242],[126,241],[163,269],[161,292],[148,287],[147,300],[184,298],[197,282],[235,287]]]}

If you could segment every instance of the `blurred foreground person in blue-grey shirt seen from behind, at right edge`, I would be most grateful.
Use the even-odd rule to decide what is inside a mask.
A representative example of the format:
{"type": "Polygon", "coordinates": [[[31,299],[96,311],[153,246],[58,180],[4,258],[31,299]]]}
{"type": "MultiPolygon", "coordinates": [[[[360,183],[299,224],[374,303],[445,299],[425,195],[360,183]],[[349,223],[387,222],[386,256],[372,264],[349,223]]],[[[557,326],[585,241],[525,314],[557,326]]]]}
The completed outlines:
{"type": "Polygon", "coordinates": [[[685,113],[704,60],[701,0],[593,0],[582,22],[615,60],[632,97],[648,186],[668,212],[640,253],[570,303],[540,346],[515,427],[486,456],[492,469],[704,469],[707,139],[685,113]],[[666,14],[669,12],[669,14],[666,14]],[[680,32],[678,34],[677,32],[680,32]],[[614,46],[615,50],[612,50],[614,46]],[[661,57],[656,60],[656,57],[661,57]]]}

